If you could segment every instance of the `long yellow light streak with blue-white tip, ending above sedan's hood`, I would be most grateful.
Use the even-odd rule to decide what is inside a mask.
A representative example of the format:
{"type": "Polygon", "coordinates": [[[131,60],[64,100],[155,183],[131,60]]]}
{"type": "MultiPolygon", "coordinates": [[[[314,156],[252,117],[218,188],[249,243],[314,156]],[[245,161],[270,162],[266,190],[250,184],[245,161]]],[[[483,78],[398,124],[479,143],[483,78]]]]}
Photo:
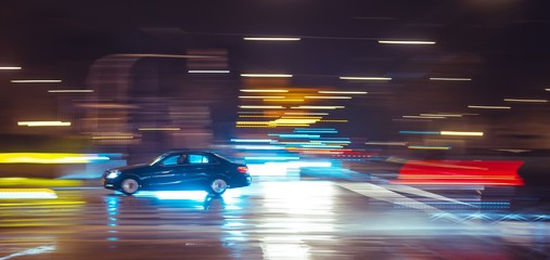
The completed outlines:
{"type": "Polygon", "coordinates": [[[108,159],[95,154],[0,153],[0,164],[87,164],[108,159]]]}

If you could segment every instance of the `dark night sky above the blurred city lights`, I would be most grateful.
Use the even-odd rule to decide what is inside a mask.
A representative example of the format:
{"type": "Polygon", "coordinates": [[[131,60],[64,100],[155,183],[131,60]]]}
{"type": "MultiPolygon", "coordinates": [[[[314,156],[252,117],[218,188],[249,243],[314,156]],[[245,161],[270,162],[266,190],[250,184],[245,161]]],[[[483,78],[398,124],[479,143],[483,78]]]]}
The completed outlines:
{"type": "MultiPolygon", "coordinates": [[[[382,126],[402,115],[463,110],[503,98],[541,98],[550,88],[547,1],[521,0],[250,0],[3,1],[0,65],[18,77],[63,78],[85,86],[88,67],[115,53],[184,54],[226,49],[229,69],[281,72],[295,86],[367,90],[350,105],[382,126]],[[258,43],[245,36],[295,36],[258,43]],[[386,46],[379,39],[433,40],[386,46]],[[388,83],[338,76],[389,76],[388,83]],[[469,77],[468,83],[430,77],[469,77]]],[[[5,83],[10,77],[1,76],[5,83]]],[[[353,130],[350,130],[353,131],[353,130]]],[[[372,128],[383,135],[387,128],[372,128]]],[[[367,134],[369,135],[369,134],[367,134]]]]}

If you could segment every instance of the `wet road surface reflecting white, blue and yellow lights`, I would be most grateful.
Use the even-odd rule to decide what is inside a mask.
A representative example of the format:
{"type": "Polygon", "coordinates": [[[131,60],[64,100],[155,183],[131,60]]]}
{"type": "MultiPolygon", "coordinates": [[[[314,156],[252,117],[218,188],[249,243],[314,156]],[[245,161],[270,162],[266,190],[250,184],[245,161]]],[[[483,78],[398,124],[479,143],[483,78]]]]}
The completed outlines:
{"type": "Polygon", "coordinates": [[[547,259],[547,211],[469,192],[258,182],[128,197],[102,188],[0,200],[0,259],[547,259]]]}

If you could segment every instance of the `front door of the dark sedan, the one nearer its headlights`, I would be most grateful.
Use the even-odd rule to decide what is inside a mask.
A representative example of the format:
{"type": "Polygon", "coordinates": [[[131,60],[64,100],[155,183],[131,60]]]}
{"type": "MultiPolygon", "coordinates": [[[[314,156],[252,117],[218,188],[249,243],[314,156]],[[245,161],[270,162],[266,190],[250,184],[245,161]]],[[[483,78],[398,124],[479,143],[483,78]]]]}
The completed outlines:
{"type": "Polygon", "coordinates": [[[182,165],[178,164],[181,154],[172,154],[158,161],[148,174],[144,184],[152,190],[172,190],[182,183],[182,165]]]}

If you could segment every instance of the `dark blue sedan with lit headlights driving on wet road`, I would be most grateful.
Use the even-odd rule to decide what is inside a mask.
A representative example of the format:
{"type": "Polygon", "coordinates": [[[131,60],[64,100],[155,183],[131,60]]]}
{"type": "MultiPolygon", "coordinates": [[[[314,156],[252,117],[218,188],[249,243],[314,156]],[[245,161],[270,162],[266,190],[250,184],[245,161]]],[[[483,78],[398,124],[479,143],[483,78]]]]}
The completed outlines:
{"type": "Polygon", "coordinates": [[[103,174],[105,188],[127,195],[141,190],[206,191],[221,195],[227,188],[248,186],[251,182],[246,165],[207,152],[169,152],[150,164],[111,169],[103,174]]]}

